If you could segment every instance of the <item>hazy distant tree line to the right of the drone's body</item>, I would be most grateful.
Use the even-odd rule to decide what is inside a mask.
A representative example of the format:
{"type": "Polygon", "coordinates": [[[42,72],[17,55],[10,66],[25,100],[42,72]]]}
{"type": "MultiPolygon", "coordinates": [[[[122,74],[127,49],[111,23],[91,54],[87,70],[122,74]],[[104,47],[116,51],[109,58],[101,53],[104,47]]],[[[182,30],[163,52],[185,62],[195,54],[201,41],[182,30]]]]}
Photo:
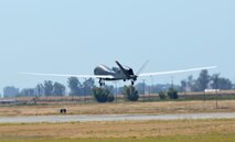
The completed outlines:
{"type": "MultiPolygon", "coordinates": [[[[228,78],[222,77],[221,74],[210,75],[206,69],[202,70],[197,78],[193,78],[190,75],[186,79],[181,80],[180,85],[173,85],[173,88],[181,92],[204,91],[206,88],[229,90],[233,87],[234,85],[228,78]]],[[[139,90],[139,94],[143,94],[143,91],[159,94],[172,88],[172,84],[146,85],[145,83],[139,83],[136,85],[136,88],[139,90]]]]}

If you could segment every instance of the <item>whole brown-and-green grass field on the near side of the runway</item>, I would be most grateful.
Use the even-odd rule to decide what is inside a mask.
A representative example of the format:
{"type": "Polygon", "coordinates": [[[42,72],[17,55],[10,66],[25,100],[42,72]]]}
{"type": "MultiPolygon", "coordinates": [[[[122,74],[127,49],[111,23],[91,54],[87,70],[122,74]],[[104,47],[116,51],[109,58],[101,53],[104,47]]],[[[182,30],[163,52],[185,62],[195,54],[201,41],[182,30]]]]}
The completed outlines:
{"type": "Polygon", "coordinates": [[[235,119],[0,124],[0,142],[234,142],[235,119]]]}

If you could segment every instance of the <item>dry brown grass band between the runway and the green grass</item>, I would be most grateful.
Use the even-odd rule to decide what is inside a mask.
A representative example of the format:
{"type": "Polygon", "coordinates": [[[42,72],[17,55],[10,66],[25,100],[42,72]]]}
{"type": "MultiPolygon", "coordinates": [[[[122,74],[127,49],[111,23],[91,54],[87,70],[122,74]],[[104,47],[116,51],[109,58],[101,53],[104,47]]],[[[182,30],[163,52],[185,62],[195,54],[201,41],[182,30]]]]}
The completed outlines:
{"type": "Polygon", "coordinates": [[[0,124],[0,138],[148,138],[235,133],[235,120],[0,124]]]}

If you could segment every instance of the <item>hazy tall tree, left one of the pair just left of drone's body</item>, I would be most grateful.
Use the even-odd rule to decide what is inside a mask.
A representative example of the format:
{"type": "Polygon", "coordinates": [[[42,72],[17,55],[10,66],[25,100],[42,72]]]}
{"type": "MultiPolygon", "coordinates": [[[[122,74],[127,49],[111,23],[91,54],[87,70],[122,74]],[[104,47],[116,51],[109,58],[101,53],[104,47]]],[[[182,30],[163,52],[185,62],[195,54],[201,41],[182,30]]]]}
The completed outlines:
{"type": "Polygon", "coordinates": [[[79,87],[82,86],[79,80],[76,77],[70,77],[67,80],[68,88],[71,89],[70,95],[76,96],[79,95],[79,87]]]}

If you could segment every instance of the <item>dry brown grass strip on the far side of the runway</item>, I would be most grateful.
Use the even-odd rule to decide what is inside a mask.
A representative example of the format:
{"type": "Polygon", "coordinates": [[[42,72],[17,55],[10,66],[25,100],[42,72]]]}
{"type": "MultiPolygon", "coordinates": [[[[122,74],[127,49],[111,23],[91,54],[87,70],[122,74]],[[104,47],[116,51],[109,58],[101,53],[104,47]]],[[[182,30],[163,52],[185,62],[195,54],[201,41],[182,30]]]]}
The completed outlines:
{"type": "Polygon", "coordinates": [[[218,109],[216,109],[215,101],[8,106],[0,107],[0,116],[58,114],[61,108],[66,108],[70,114],[235,112],[235,100],[218,101],[218,109]]]}

